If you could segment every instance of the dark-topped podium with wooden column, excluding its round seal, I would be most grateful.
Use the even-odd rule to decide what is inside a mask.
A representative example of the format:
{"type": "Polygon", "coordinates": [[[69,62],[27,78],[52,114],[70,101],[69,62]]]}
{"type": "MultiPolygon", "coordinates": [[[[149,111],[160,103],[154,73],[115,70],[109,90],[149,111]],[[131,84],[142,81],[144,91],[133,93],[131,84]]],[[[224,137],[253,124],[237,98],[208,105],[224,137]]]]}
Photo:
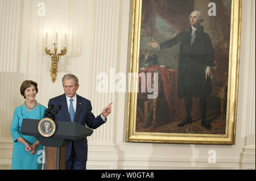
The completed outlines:
{"type": "Polygon", "coordinates": [[[68,121],[54,121],[55,132],[52,136],[45,137],[39,132],[39,122],[37,119],[23,119],[20,132],[23,135],[35,136],[36,139],[46,149],[46,170],[65,169],[65,146],[73,140],[78,140],[92,135],[93,130],[78,123],[68,121]]]}

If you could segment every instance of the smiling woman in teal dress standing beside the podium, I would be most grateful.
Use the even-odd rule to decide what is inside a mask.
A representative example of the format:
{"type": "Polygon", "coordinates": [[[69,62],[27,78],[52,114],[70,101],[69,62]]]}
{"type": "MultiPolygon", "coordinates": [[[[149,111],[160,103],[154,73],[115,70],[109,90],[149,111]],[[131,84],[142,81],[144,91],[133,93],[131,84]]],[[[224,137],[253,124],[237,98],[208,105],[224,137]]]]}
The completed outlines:
{"type": "Polygon", "coordinates": [[[20,94],[24,96],[24,103],[15,108],[13,123],[11,123],[11,137],[13,138],[13,160],[11,169],[39,170],[43,166],[43,146],[34,136],[20,133],[23,118],[43,119],[46,107],[36,102],[38,84],[33,81],[24,81],[20,86],[20,94]]]}

